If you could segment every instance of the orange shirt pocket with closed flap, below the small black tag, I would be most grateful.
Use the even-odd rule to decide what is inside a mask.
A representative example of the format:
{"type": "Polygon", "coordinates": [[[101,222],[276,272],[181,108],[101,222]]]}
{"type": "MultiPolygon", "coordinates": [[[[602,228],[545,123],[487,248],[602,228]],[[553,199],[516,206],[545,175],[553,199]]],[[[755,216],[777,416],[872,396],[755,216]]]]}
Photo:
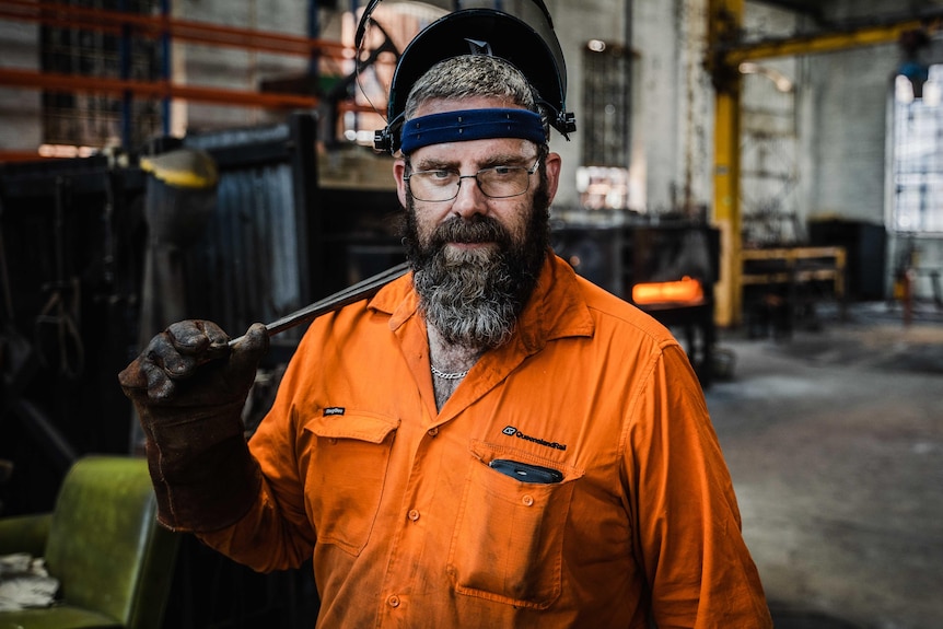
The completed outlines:
{"type": "Polygon", "coordinates": [[[306,470],[308,510],[317,541],[353,556],[370,539],[389,451],[399,420],[366,412],[315,417],[304,430],[314,434],[306,470]]]}

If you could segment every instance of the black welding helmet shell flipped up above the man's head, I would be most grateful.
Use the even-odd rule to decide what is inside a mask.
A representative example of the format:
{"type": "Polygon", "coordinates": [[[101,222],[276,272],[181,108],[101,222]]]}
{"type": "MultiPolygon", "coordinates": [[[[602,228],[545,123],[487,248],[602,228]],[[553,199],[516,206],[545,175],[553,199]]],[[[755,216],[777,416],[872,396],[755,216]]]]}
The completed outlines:
{"type": "MultiPolygon", "coordinates": [[[[373,0],[364,10],[357,31],[358,48],[380,2],[373,0]]],[[[567,139],[575,131],[574,117],[567,112],[567,67],[552,20],[544,3],[533,0],[521,16],[489,8],[462,9],[420,31],[396,63],[386,127],[374,139],[377,150],[395,153],[399,149],[406,100],[416,81],[439,61],[469,54],[491,55],[514,66],[537,92],[547,123],[567,139]]]]}

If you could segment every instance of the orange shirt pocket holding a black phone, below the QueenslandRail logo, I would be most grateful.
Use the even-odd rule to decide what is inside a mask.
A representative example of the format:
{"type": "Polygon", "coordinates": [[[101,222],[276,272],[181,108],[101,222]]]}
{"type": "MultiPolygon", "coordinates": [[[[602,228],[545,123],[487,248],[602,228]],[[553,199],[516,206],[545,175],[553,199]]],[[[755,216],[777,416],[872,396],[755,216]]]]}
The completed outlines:
{"type": "Polygon", "coordinates": [[[449,551],[455,591],[546,609],[560,596],[566,523],[582,471],[482,442],[473,443],[472,454],[449,551]],[[521,482],[488,467],[493,458],[555,467],[563,480],[521,482]]]}

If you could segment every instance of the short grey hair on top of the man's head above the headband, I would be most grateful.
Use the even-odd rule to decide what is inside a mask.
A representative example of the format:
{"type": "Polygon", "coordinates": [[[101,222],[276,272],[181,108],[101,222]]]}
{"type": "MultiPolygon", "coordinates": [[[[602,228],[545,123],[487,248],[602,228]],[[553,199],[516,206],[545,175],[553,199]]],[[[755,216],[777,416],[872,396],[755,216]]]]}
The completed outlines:
{"type": "Polygon", "coordinates": [[[537,94],[524,74],[510,62],[489,55],[462,55],[439,61],[426,71],[409,91],[404,108],[405,119],[427,101],[458,101],[473,96],[503,98],[540,114],[537,94]]]}

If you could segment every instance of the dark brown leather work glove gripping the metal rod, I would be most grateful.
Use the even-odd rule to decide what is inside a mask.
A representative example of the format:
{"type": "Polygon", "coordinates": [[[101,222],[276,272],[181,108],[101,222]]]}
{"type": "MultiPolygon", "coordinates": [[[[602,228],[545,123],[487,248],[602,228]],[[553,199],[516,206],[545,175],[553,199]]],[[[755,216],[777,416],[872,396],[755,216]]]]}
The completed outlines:
{"type": "Polygon", "coordinates": [[[175,323],[120,374],[147,438],[158,520],[172,531],[218,531],[255,501],[261,473],[242,409],[268,350],[261,324],[233,348],[213,323],[175,323]]]}

